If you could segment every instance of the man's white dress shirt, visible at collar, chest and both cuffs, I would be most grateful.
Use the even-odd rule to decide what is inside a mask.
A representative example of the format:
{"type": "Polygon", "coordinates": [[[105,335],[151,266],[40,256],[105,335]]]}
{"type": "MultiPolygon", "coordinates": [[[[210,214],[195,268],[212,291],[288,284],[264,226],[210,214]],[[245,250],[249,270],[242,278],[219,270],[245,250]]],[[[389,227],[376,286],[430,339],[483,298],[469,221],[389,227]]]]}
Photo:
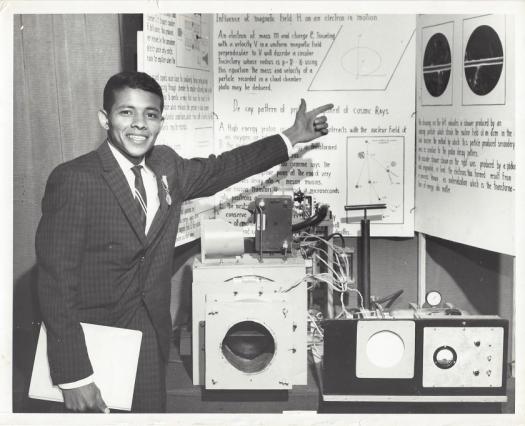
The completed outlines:
{"type": "MultiPolygon", "coordinates": [[[[290,157],[294,151],[294,148],[290,142],[290,140],[283,134],[279,133],[279,136],[283,139],[286,149],[288,151],[288,156],[290,157]]],[[[129,190],[131,191],[131,194],[134,196],[135,194],[135,174],[132,172],[131,168],[135,166],[131,161],[129,161],[124,155],[113,145],[111,145],[109,142],[106,142],[109,145],[109,148],[111,149],[111,152],[113,153],[115,159],[117,160],[117,163],[119,164],[120,168],[122,169],[122,172],[124,173],[124,176],[126,177],[126,180],[128,181],[129,190]]],[[[147,212],[146,212],[146,234],[148,233],[148,230],[151,226],[151,222],[153,222],[153,218],[155,217],[155,214],[157,213],[157,210],[160,206],[159,201],[159,193],[158,193],[158,187],[157,187],[157,178],[155,177],[155,173],[146,165],[144,159],[138,164],[142,166],[142,169],[140,170],[142,174],[142,180],[144,182],[144,189],[146,190],[146,198],[147,198],[147,212]]],[[[79,388],[81,386],[89,385],[94,381],[93,375],[88,376],[84,379],[77,380],[75,382],[71,383],[62,383],[59,384],[58,387],[61,389],[74,389],[79,388]]]]}

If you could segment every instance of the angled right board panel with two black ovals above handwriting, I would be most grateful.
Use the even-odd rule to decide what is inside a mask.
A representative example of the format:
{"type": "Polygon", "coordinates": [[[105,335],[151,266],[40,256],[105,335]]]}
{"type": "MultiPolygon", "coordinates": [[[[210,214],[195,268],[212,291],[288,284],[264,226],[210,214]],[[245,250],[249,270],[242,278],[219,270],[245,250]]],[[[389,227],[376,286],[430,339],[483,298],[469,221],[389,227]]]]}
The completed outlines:
{"type": "Polygon", "coordinates": [[[416,230],[514,254],[514,22],[418,18],[416,230]]]}

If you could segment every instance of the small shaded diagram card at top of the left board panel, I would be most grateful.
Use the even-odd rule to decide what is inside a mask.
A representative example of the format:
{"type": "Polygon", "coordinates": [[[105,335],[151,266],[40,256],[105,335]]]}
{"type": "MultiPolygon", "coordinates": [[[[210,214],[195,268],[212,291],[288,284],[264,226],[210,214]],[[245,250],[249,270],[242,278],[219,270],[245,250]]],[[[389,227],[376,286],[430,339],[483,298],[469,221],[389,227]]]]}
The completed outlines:
{"type": "Polygon", "coordinates": [[[177,66],[209,71],[209,16],[177,15],[177,66]]]}

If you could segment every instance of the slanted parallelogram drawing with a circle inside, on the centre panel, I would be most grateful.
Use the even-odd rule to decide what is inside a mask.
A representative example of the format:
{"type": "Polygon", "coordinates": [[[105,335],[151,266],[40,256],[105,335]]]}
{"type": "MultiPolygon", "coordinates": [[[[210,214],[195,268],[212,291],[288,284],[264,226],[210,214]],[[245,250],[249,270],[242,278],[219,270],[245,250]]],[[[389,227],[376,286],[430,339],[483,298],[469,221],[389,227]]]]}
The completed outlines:
{"type": "Polygon", "coordinates": [[[396,19],[388,37],[377,27],[341,26],[308,90],[386,90],[414,35],[411,17],[396,19]]]}

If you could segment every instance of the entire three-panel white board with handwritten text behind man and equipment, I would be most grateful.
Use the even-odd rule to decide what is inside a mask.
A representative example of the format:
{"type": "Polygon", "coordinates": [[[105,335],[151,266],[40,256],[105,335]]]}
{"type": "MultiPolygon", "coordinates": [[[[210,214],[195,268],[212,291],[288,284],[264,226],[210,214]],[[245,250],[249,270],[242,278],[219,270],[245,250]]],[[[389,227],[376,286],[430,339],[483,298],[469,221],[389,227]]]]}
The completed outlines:
{"type": "Polygon", "coordinates": [[[330,205],[334,230],[346,236],[359,234],[360,213],[345,205],[386,203],[371,217],[372,236],[417,230],[512,253],[511,21],[144,15],[139,67],[166,97],[159,143],[183,156],[280,132],[293,123],[300,98],[308,109],[334,104],[326,137],[215,197],[186,203],[178,244],[199,237],[203,213],[245,226],[257,194],[300,189],[330,205]]]}

